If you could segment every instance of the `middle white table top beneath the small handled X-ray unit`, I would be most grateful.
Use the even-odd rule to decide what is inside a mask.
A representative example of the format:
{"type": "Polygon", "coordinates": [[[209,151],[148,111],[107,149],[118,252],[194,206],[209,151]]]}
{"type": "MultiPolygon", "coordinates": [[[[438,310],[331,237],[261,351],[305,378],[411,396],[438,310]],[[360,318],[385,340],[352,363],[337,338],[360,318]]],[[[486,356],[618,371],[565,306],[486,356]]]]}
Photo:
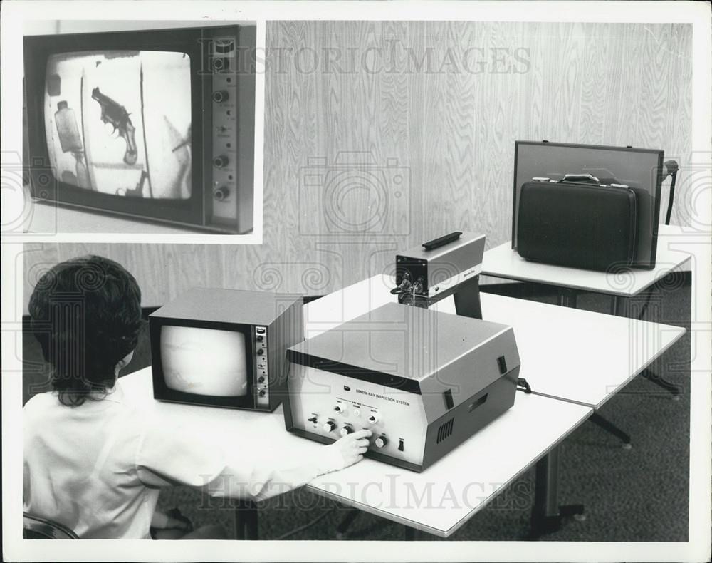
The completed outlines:
{"type": "MultiPolygon", "coordinates": [[[[307,338],[384,303],[394,279],[377,275],[312,301],[305,308],[307,338]]],[[[520,377],[533,393],[600,408],[644,370],[685,329],[620,316],[481,294],[487,321],[514,327],[521,358],[520,377]]],[[[452,297],[434,309],[455,312],[452,297]]]]}

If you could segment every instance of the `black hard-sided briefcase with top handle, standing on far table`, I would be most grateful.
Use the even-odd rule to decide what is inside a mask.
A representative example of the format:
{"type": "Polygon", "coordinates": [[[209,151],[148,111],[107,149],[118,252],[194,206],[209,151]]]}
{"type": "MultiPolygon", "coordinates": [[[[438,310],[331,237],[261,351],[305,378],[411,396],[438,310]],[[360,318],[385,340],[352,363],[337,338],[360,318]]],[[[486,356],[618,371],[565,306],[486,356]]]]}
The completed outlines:
{"type": "Polygon", "coordinates": [[[636,251],[636,194],[590,175],[558,182],[534,178],[520,192],[517,251],[537,262],[583,269],[631,266],[636,251]]]}

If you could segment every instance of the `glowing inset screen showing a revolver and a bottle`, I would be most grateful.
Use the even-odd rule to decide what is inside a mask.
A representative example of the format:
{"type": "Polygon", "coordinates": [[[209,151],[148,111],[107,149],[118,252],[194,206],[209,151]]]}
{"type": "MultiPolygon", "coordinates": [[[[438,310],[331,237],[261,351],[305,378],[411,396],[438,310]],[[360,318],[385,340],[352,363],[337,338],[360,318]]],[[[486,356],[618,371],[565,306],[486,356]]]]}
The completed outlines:
{"type": "Polygon", "coordinates": [[[110,195],[189,199],[187,53],[59,53],[48,60],[46,85],[48,153],[62,182],[110,195]]]}

